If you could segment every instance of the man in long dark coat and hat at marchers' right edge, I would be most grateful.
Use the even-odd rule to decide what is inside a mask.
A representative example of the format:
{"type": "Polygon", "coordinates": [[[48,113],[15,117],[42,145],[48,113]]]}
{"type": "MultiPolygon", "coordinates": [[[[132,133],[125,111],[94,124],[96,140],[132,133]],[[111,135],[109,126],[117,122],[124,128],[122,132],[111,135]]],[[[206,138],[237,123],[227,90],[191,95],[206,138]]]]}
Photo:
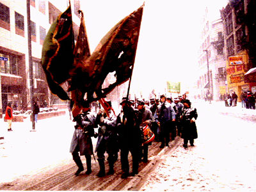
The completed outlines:
{"type": "Polygon", "coordinates": [[[196,108],[191,108],[189,100],[184,100],[183,105],[184,108],[180,117],[182,124],[181,138],[184,139],[183,147],[186,149],[188,148],[188,141],[191,146],[194,146],[194,139],[198,137],[195,123],[198,115],[196,108]]]}

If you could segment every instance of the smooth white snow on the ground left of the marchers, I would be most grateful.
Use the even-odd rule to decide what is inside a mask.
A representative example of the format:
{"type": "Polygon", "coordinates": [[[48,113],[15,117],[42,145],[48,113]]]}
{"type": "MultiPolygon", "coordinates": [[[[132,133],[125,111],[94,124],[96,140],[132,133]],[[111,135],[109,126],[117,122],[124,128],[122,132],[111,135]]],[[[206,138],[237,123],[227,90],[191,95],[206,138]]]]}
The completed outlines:
{"type": "Polygon", "coordinates": [[[30,121],[13,122],[13,131],[7,131],[8,124],[3,120],[0,126],[4,137],[0,140],[0,183],[72,159],[69,147],[74,122],[67,113],[39,120],[35,131],[31,131],[30,121]]]}

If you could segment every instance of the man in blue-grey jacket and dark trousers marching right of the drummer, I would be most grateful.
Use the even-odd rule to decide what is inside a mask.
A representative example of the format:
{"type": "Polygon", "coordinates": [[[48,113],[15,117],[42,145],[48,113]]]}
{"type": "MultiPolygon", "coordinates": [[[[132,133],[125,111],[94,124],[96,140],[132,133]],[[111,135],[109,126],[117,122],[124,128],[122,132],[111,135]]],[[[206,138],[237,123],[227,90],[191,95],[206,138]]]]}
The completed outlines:
{"type": "Polygon", "coordinates": [[[166,102],[166,97],[163,95],[160,96],[161,103],[157,106],[157,111],[155,114],[155,119],[159,124],[159,139],[161,141],[160,148],[169,146],[170,142],[170,121],[175,121],[175,111],[173,110],[170,103],[166,102]]]}

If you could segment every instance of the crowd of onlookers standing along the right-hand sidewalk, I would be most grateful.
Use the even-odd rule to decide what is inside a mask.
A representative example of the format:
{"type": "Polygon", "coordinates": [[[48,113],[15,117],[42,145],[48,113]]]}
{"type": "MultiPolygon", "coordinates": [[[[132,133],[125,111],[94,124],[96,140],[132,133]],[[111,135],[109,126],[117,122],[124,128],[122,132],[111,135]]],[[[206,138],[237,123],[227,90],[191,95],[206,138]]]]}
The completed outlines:
{"type": "MultiPolygon", "coordinates": [[[[255,93],[253,93],[252,91],[242,92],[240,95],[242,107],[255,109],[255,98],[256,98],[256,92],[255,93]]],[[[238,99],[238,96],[236,92],[232,92],[232,94],[226,93],[226,94],[220,95],[220,100],[225,101],[226,107],[237,106],[237,99],[238,99]]]]}

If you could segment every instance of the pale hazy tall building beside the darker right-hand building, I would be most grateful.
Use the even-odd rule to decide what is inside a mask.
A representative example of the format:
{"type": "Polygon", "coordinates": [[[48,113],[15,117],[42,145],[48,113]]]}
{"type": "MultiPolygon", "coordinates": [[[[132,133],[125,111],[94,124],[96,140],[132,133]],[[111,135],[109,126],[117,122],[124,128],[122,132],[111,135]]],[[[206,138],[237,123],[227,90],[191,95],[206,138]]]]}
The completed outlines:
{"type": "Polygon", "coordinates": [[[216,15],[218,15],[216,10],[206,6],[202,18],[196,98],[205,100],[221,100],[222,95],[227,91],[223,23],[221,18],[216,18],[216,15]]]}

